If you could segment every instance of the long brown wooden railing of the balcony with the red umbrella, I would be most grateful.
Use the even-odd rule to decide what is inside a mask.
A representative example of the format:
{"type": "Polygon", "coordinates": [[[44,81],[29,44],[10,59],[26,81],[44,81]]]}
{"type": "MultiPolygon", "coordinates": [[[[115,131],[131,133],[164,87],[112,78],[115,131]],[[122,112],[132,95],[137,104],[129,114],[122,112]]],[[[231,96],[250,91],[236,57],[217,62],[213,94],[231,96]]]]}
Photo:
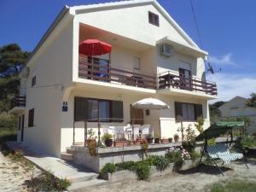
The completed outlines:
{"type": "Polygon", "coordinates": [[[156,77],[154,75],[99,65],[96,62],[79,61],[79,78],[156,89],[156,77]]]}

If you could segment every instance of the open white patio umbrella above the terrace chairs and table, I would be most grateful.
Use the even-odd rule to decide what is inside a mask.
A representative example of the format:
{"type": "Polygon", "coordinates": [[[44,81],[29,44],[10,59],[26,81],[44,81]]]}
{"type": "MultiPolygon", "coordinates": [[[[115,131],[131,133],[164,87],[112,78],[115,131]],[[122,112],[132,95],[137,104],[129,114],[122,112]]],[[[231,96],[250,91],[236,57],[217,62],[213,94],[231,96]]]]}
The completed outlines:
{"type": "MultiPolygon", "coordinates": [[[[155,99],[155,98],[151,98],[151,97],[142,99],[138,102],[135,102],[131,106],[133,108],[157,109],[157,110],[170,108],[165,102],[162,102],[159,99],[155,99]]],[[[132,132],[133,132],[133,125],[132,125],[132,132]]],[[[160,125],[160,135],[161,135],[161,125],[160,125]]]]}

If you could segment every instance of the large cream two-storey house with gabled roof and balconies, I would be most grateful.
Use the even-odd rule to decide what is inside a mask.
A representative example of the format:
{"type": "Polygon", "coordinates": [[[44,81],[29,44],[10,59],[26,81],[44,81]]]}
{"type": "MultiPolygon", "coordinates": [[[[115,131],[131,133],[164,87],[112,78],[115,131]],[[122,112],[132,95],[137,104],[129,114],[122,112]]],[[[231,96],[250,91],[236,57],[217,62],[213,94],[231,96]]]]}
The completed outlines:
{"type": "MultiPolygon", "coordinates": [[[[208,100],[217,98],[217,89],[205,79],[206,59],[207,52],[154,0],[65,7],[20,73],[20,96],[11,110],[19,115],[18,142],[60,156],[73,137],[84,142],[85,113],[118,119],[104,125],[140,119],[136,124],[151,125],[160,137],[177,133],[177,115],[186,127],[202,115],[207,128],[208,100]],[[95,64],[79,55],[79,43],[88,38],[111,44],[111,54],[96,56],[95,64]],[[108,68],[104,79],[100,66],[108,68]],[[131,108],[147,97],[170,108],[131,108]]],[[[96,127],[97,121],[88,123],[96,127]]]]}

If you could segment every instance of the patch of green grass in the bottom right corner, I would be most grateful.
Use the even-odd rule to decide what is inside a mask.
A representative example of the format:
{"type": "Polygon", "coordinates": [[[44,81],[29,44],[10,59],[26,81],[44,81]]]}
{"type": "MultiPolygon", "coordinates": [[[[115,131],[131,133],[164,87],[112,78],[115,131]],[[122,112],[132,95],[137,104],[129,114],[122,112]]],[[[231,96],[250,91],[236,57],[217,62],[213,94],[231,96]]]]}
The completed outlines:
{"type": "Polygon", "coordinates": [[[214,183],[211,192],[253,192],[256,183],[244,180],[231,180],[226,183],[214,183]]]}

